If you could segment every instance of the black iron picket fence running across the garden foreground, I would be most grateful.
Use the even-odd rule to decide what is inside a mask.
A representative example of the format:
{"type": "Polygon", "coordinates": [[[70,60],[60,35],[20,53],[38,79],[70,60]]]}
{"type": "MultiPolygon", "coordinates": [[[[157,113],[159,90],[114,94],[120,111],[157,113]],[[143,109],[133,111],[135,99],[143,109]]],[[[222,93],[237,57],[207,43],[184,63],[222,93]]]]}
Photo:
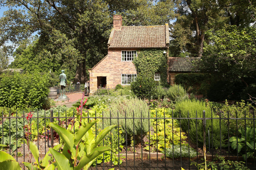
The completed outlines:
{"type": "MultiPolygon", "coordinates": [[[[143,116],[141,113],[140,117],[134,117],[126,113],[113,116],[111,112],[95,112],[95,116],[89,117],[88,112],[88,116],[83,116],[83,119],[88,122],[99,120],[94,126],[95,136],[108,125],[118,125],[101,144],[113,148],[108,161],[104,155],[94,168],[196,169],[192,162],[202,163],[204,152],[209,161],[216,156],[224,156],[227,160],[244,161],[245,166],[252,169],[256,167],[255,112],[245,113],[242,118],[229,113],[226,116],[217,114],[218,117],[213,116],[213,113],[211,117],[206,117],[205,112],[198,115],[190,117],[188,112],[186,117],[181,117],[181,114],[175,117],[173,113],[167,116],[156,112],[154,116],[150,113],[143,116]]],[[[50,147],[61,143],[58,134],[49,127],[49,122],[68,129],[76,111],[33,112],[28,120],[26,116],[25,112],[10,112],[2,113],[0,117],[0,141],[8,145],[2,150],[14,156],[19,163],[27,161],[29,152],[20,141],[26,136],[24,127],[28,120],[31,123],[29,138],[38,146],[39,155],[43,157],[50,147]]],[[[73,130],[75,132],[75,126],[73,130]]]]}

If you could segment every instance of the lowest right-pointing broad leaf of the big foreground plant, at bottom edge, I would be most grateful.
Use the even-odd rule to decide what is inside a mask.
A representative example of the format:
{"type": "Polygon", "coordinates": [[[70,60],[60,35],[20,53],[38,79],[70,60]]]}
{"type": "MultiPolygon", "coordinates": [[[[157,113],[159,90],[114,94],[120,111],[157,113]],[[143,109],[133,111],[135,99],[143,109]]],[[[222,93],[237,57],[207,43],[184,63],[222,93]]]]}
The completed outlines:
{"type": "MultiPolygon", "coordinates": [[[[102,153],[109,151],[111,148],[108,146],[100,146],[92,150],[90,155],[83,156],[80,159],[80,162],[77,166],[75,166],[74,170],[80,170],[84,166],[86,166],[88,163],[90,163],[92,160],[96,159],[98,156],[100,156],[102,153]]],[[[87,167],[88,168],[88,167],[87,167]]]]}

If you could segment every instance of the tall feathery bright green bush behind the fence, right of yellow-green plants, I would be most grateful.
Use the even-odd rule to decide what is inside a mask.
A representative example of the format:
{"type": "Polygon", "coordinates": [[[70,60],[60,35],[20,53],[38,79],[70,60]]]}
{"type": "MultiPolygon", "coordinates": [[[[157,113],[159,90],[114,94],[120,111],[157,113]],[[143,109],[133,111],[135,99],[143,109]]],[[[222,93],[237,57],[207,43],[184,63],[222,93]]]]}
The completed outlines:
{"type": "MultiPolygon", "coordinates": [[[[175,105],[174,109],[174,116],[179,117],[181,114],[182,118],[187,118],[188,113],[190,118],[196,118],[196,113],[198,118],[203,118],[203,110],[205,110],[205,117],[211,118],[211,114],[213,118],[219,118],[218,115],[211,112],[210,106],[206,106],[204,102],[202,101],[196,101],[196,100],[186,100],[186,101],[179,101],[175,105]]],[[[210,141],[211,146],[215,148],[220,147],[220,141],[222,144],[224,144],[224,141],[227,137],[227,127],[226,123],[224,121],[221,121],[221,140],[220,140],[220,123],[219,119],[213,119],[212,124],[211,120],[206,120],[206,127],[210,129],[210,141]],[[211,126],[213,127],[211,131],[211,126]],[[213,138],[211,138],[211,134],[213,134],[213,138]]],[[[182,130],[186,131],[188,133],[188,119],[181,119],[181,128],[182,130]]],[[[198,137],[198,144],[203,145],[203,121],[196,119],[189,119],[189,136],[190,140],[193,141],[193,143],[196,143],[196,134],[198,137]],[[197,131],[196,131],[197,127],[197,131]]],[[[207,133],[206,133],[207,134],[207,133]]],[[[208,135],[207,135],[208,136],[208,135]]],[[[207,144],[208,145],[208,144],[207,144]]]]}

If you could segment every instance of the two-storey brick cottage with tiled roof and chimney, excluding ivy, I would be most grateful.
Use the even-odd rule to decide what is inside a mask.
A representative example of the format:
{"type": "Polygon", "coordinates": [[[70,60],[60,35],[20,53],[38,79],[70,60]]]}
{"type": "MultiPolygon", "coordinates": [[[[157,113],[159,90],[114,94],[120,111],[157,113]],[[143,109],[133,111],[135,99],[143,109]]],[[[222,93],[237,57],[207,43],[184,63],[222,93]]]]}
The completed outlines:
{"type": "MultiPolygon", "coordinates": [[[[113,29],[108,41],[108,54],[98,62],[90,73],[90,95],[98,87],[114,88],[117,84],[130,85],[137,77],[133,59],[142,49],[166,51],[169,66],[169,25],[122,26],[122,16],[113,16],[113,29]]],[[[169,69],[166,70],[169,72],[169,69]]],[[[154,79],[160,80],[160,74],[154,79]]],[[[170,83],[169,73],[167,83],[170,83]]]]}

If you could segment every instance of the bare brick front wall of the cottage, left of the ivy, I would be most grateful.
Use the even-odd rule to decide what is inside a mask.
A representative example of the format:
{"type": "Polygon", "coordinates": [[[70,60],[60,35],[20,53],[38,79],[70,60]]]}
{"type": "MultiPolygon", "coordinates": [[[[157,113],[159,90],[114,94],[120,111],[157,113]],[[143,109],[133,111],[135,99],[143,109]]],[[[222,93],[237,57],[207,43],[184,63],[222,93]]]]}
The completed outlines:
{"type": "MultiPolygon", "coordinates": [[[[137,74],[132,61],[121,61],[122,52],[125,49],[109,49],[108,56],[104,58],[94,69],[90,70],[90,93],[97,90],[97,76],[106,76],[107,88],[114,88],[121,84],[122,74],[137,74]]],[[[127,49],[136,51],[135,49],[127,49]]]]}

